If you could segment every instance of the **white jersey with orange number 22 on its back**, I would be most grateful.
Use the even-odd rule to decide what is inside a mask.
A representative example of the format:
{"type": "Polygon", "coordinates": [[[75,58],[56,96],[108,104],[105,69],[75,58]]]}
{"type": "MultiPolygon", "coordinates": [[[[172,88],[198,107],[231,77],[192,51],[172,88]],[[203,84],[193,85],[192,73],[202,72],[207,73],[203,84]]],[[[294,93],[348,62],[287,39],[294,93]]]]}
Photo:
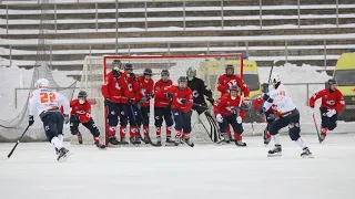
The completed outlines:
{"type": "Polygon", "coordinates": [[[38,88],[30,95],[29,114],[38,113],[40,115],[43,111],[55,109],[60,105],[63,106],[64,114],[69,114],[70,107],[67,97],[49,88],[38,88]]]}

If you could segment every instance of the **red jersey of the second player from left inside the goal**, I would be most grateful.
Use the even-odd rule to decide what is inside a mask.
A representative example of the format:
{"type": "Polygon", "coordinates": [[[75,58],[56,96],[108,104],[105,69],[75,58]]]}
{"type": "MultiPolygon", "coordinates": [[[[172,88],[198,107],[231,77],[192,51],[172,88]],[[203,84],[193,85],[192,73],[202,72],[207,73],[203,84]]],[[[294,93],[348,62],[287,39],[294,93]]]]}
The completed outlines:
{"type": "Polygon", "coordinates": [[[123,88],[123,96],[122,96],[122,104],[129,104],[129,100],[133,100],[133,104],[136,103],[138,96],[139,96],[139,85],[136,81],[133,81],[133,78],[130,76],[130,74],[123,73],[125,76],[126,86],[123,88]]]}

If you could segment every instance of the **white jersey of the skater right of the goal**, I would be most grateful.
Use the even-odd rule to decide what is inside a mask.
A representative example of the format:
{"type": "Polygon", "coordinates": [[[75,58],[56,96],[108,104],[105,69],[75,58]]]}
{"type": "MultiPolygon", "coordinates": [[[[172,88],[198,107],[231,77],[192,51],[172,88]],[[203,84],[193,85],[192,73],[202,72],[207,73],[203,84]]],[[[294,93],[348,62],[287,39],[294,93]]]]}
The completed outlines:
{"type": "Polygon", "coordinates": [[[276,106],[278,114],[284,114],[296,108],[285,85],[280,84],[276,90],[268,93],[273,103],[265,102],[264,108],[268,109],[273,104],[276,106]]]}

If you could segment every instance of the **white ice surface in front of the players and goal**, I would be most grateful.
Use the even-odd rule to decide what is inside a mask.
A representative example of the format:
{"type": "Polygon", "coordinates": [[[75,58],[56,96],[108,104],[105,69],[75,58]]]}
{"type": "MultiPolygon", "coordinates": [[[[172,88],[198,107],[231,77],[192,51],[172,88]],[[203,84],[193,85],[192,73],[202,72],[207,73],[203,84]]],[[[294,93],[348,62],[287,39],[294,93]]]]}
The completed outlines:
{"type": "Polygon", "coordinates": [[[0,144],[1,199],[354,199],[355,134],[304,136],[314,159],[282,137],[283,156],[267,158],[261,137],[234,145],[126,147],[69,146],[55,161],[49,143],[0,144]]]}

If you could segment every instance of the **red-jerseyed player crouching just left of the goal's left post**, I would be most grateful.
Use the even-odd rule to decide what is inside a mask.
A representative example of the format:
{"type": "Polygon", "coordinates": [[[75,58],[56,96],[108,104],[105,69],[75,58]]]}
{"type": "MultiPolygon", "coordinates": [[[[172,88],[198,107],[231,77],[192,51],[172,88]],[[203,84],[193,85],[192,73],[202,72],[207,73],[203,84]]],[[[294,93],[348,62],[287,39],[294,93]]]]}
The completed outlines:
{"type": "Polygon", "coordinates": [[[79,132],[79,124],[81,123],[87,127],[93,136],[93,143],[98,148],[104,149],[105,146],[100,143],[100,132],[91,117],[91,104],[87,100],[88,94],[80,91],[78,98],[70,102],[70,132],[72,135],[78,135],[79,144],[82,144],[82,135],[79,132]]]}

